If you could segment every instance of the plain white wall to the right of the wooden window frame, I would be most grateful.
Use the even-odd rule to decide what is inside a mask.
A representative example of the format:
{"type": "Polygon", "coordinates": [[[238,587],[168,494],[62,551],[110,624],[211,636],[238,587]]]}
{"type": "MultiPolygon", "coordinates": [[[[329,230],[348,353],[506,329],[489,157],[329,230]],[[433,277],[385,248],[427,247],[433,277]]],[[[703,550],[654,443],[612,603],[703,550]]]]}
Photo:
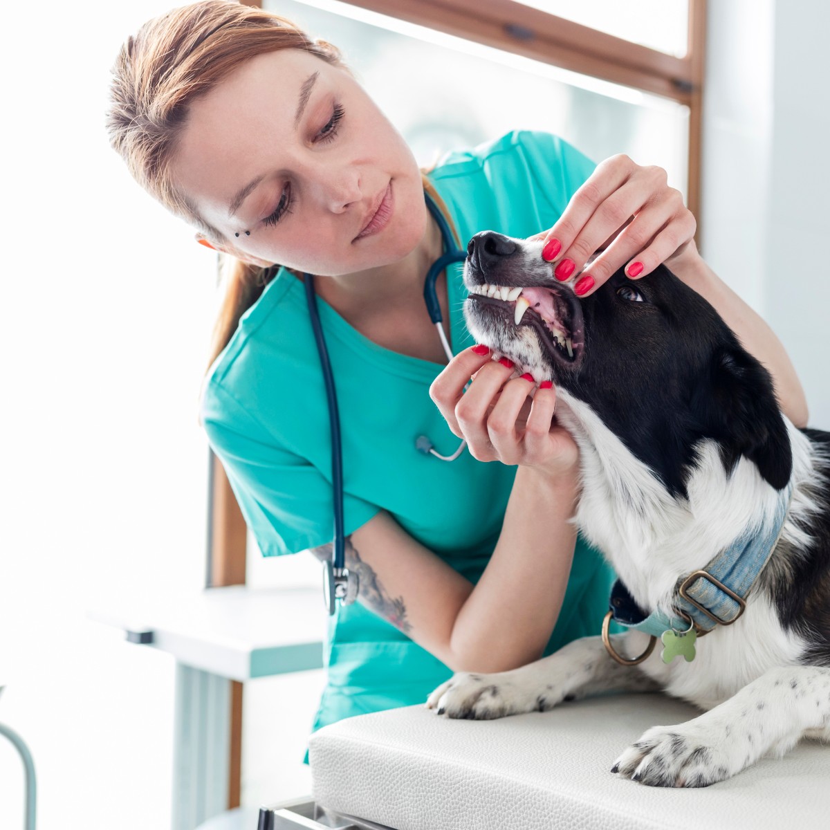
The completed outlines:
{"type": "Polygon", "coordinates": [[[830,4],[708,7],[702,252],[772,326],[807,393],[810,425],[827,429],[830,4]]]}

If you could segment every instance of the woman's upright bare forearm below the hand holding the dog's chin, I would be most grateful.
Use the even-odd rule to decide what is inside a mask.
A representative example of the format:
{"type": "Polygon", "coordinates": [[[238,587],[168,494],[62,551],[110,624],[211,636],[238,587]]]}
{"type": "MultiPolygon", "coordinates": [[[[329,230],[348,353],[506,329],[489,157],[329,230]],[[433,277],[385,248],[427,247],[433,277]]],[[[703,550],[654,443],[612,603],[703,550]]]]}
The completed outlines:
{"type": "Polygon", "coordinates": [[[505,671],[541,657],[574,559],[575,477],[516,471],[496,549],[452,628],[457,671],[505,671]]]}

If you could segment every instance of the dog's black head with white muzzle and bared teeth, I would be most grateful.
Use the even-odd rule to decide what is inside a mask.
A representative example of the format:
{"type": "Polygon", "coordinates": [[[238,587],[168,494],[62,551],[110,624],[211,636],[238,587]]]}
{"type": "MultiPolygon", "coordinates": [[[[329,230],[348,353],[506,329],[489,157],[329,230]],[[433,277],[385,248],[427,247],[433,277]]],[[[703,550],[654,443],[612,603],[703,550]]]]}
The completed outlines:
{"type": "Polygon", "coordinates": [[[769,484],[787,484],[790,443],[769,373],[701,295],[660,266],[640,280],[618,271],[580,299],[541,251],[472,237],[464,315],[477,342],[587,403],[672,495],[686,496],[702,438],[718,442],[727,471],[745,456],[769,484]]]}

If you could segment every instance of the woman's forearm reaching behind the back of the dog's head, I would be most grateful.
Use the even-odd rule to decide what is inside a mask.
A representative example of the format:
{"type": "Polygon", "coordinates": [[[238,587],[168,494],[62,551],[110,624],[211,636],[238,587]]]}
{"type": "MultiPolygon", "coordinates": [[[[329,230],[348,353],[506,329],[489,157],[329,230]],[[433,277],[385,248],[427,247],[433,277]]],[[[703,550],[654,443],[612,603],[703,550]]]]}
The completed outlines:
{"type": "Polygon", "coordinates": [[[666,262],[666,265],[715,307],[749,354],[759,359],[769,371],[784,415],[796,427],[806,427],[807,398],[789,355],[769,325],[712,271],[696,251],[666,262]]]}

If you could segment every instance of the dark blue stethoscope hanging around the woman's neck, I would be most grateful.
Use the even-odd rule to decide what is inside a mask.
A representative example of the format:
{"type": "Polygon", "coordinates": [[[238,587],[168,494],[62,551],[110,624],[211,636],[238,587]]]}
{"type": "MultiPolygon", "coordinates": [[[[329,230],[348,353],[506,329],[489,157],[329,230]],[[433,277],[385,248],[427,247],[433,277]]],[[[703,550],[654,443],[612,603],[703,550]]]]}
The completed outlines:
{"type": "MultiPolygon", "coordinates": [[[[435,290],[435,283],[438,275],[452,262],[461,262],[466,259],[466,251],[455,247],[455,240],[447,225],[447,220],[438,209],[437,204],[432,200],[429,193],[424,192],[427,207],[435,217],[438,227],[441,228],[444,253],[439,256],[427,272],[427,279],[423,284],[423,300],[427,305],[427,311],[432,323],[438,330],[447,360],[452,360],[452,350],[447,343],[447,335],[442,327],[441,306],[438,305],[438,295],[435,290]]],[[[320,353],[320,366],[323,369],[325,380],[325,393],[329,399],[329,423],[331,428],[331,481],[334,489],[334,550],[331,559],[324,563],[323,567],[323,597],[325,606],[329,613],[333,614],[339,599],[344,605],[354,603],[358,595],[358,574],[349,574],[344,563],[345,539],[343,533],[343,452],[340,444],[340,419],[337,410],[337,395],[334,392],[334,377],[331,374],[329,351],[325,348],[323,328],[320,325],[320,313],[317,310],[317,295],[314,290],[314,276],[304,274],[305,299],[308,302],[311,327],[314,329],[314,336],[317,342],[317,351],[320,353]]],[[[462,441],[461,446],[452,456],[439,455],[433,448],[432,442],[426,436],[417,438],[416,448],[424,455],[432,454],[442,461],[453,461],[461,455],[466,442],[462,441]]]]}

